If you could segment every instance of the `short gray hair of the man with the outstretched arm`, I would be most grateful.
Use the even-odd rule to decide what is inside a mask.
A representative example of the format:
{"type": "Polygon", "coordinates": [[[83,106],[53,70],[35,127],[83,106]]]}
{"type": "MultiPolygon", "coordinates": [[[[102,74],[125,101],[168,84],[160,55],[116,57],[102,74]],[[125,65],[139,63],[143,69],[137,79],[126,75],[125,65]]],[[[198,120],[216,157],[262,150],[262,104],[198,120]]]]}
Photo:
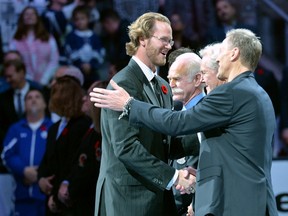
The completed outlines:
{"type": "Polygon", "coordinates": [[[262,54],[260,38],[248,29],[233,29],[226,33],[231,48],[240,51],[241,64],[254,71],[262,54]]]}

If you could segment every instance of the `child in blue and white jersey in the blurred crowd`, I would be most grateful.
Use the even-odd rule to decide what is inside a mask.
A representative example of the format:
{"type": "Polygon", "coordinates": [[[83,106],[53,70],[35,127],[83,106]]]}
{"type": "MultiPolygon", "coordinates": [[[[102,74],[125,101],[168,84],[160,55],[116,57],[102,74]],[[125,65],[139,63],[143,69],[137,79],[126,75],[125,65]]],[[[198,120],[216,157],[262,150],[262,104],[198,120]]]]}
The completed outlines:
{"type": "Polygon", "coordinates": [[[105,56],[100,37],[89,29],[89,17],[90,10],[87,6],[77,6],[72,15],[75,29],[65,38],[68,63],[82,71],[85,89],[99,79],[99,70],[105,56]]]}

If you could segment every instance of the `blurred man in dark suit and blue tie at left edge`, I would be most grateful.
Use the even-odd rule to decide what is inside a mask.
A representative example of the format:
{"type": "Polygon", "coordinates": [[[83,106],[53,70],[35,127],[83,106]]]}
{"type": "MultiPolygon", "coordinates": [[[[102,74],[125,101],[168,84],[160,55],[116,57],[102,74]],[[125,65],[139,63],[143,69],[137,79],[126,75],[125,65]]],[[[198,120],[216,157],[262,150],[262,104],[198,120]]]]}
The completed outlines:
{"type": "MultiPolygon", "coordinates": [[[[3,65],[3,75],[11,86],[0,94],[0,153],[3,149],[3,140],[8,128],[24,117],[24,97],[31,89],[41,89],[41,86],[32,85],[25,79],[26,68],[20,60],[9,60],[3,65]],[[19,99],[19,100],[18,100],[19,99]]],[[[12,176],[2,164],[0,159],[0,187],[5,188],[0,192],[0,206],[4,206],[3,212],[11,208],[13,190],[12,176]],[[2,193],[3,192],[3,193],[2,193]],[[2,197],[4,197],[2,199],[2,197]],[[11,198],[11,200],[10,200],[11,198]],[[10,203],[6,203],[6,202],[10,203]]],[[[12,207],[13,208],[13,207],[12,207]]],[[[10,213],[7,213],[9,215],[10,213]]]]}

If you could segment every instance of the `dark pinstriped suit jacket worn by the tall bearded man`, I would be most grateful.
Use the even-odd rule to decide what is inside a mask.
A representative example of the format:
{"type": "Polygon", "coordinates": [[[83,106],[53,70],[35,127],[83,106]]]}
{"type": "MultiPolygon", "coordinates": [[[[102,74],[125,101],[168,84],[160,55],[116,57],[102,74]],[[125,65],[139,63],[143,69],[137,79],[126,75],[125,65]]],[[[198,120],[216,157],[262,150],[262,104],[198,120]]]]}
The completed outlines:
{"type": "MultiPolygon", "coordinates": [[[[149,81],[134,60],[113,80],[133,97],[159,105],[149,81]]],[[[160,77],[159,82],[168,90],[166,94],[161,92],[164,107],[171,110],[169,84],[160,77]]],[[[166,136],[146,127],[131,127],[127,117],[118,120],[120,114],[108,109],[101,112],[102,158],[95,215],[100,212],[109,216],[176,215],[172,191],[165,190],[175,173],[167,164],[166,136]]]]}

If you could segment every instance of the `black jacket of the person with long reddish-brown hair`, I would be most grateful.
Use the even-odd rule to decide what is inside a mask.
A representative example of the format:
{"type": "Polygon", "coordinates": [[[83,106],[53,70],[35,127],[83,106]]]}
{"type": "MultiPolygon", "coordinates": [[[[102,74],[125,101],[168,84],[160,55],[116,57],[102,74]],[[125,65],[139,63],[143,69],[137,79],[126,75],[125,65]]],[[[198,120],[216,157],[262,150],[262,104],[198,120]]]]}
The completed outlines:
{"type": "Polygon", "coordinates": [[[38,179],[55,175],[52,195],[58,206],[64,206],[57,199],[59,186],[67,180],[79,151],[82,138],[88,130],[91,120],[86,116],[71,118],[56,139],[60,121],[53,124],[48,131],[46,151],[38,168],[38,179]]]}

